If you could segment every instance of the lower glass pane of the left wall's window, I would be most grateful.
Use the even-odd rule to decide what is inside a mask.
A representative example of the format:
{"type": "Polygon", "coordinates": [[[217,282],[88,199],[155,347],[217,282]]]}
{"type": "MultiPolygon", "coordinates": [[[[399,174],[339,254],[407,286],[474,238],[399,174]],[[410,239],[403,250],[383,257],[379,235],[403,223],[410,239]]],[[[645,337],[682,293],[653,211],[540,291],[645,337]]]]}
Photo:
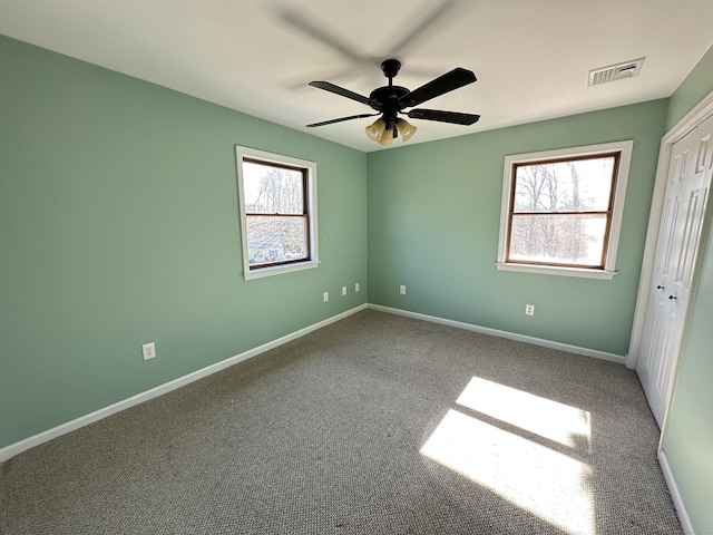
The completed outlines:
{"type": "Polygon", "coordinates": [[[306,217],[247,216],[250,264],[290,262],[307,257],[306,217]]]}

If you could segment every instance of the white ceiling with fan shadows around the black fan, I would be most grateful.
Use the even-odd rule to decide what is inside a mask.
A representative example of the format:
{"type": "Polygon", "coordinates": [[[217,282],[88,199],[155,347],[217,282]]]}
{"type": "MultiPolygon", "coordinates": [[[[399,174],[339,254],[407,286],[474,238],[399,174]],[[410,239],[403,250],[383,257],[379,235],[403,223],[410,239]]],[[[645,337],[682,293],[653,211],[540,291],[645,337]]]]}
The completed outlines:
{"type": "Polygon", "coordinates": [[[668,97],[712,20],[711,0],[0,0],[2,35],[367,152],[382,148],[364,135],[373,119],[304,127],[372,111],[310,80],[369,95],[389,57],[410,89],[475,71],[421,107],[480,121],[412,120],[422,143],[668,97]],[[643,56],[638,77],[587,86],[590,69],[643,56]]]}

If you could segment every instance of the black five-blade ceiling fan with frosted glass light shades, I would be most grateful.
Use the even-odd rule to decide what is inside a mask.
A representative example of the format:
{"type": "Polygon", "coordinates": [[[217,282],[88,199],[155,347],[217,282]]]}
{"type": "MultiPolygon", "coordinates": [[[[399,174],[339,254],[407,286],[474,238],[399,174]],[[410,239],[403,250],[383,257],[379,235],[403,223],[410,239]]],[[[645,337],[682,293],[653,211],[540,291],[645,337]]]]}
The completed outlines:
{"type": "Polygon", "coordinates": [[[391,145],[399,136],[401,136],[404,142],[408,142],[413,137],[413,134],[416,134],[417,130],[413,125],[409,124],[406,119],[400,118],[399,114],[406,114],[411,119],[437,120],[440,123],[452,123],[456,125],[472,125],[480,118],[479,115],[443,111],[440,109],[416,108],[410,111],[403,111],[406,108],[418,106],[431,98],[436,98],[440,95],[452,91],[453,89],[458,89],[459,87],[472,84],[477,78],[471,70],[457,67],[411,91],[406,87],[393,85],[393,78],[397,76],[400,68],[401,61],[398,59],[384,60],[381,64],[381,70],[389,79],[389,85],[378,87],[371,91],[369,97],[364,97],[358,93],[335,86],[330,81],[311,81],[310,86],[312,87],[324,89],[325,91],[334,93],[342,97],[365,104],[375,109],[377,113],[351,115],[349,117],[323,120],[321,123],[313,123],[306,126],[318,127],[332,125],[334,123],[342,123],[344,120],[361,119],[363,117],[374,117],[380,115],[381,117],[379,119],[367,127],[367,136],[381,145],[391,145]]]}

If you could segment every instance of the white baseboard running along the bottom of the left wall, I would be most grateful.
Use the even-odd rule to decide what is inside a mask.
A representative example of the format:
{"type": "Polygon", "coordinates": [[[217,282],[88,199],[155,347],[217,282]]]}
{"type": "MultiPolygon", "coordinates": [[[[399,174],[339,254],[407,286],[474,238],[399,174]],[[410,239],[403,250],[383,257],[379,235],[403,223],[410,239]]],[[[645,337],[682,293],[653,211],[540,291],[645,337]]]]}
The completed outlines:
{"type": "Polygon", "coordinates": [[[333,315],[328,318],[326,320],[320,321],[319,323],[314,323],[313,325],[305,327],[304,329],[300,329],[291,334],[285,334],[277,340],[273,340],[272,342],[264,343],[258,346],[257,348],[253,348],[243,353],[236,354],[228,359],[222,360],[221,362],[216,362],[215,364],[211,364],[206,368],[202,368],[196,370],[187,376],[179,377],[174,379],[173,381],[168,381],[164,385],[159,385],[158,387],[152,388],[150,390],[146,390],[145,392],[137,393],[136,396],[131,396],[130,398],[124,399],[116,403],[113,403],[108,407],[105,407],[99,410],[95,410],[88,415],[76,418],[66,424],[61,424],[57,427],[42,431],[38,435],[33,435],[28,437],[19,442],[11,444],[0,449],[0,463],[4,463],[9,458],[21,454],[22,451],[33,448],[35,446],[39,446],[40,444],[47,442],[53,438],[66,435],[67,432],[79,429],[80,427],[88,426],[89,424],[94,424],[95,421],[101,420],[107,416],[111,416],[116,412],[120,412],[121,410],[134,407],[135,405],[143,403],[144,401],[148,401],[149,399],[157,398],[158,396],[163,396],[164,393],[170,392],[172,390],[176,390],[177,388],[184,387],[191,382],[197,381],[198,379],[203,379],[207,376],[211,376],[217,371],[224,370],[225,368],[229,368],[233,364],[237,364],[238,362],[243,362],[244,360],[256,357],[265,351],[270,351],[279,346],[291,342],[292,340],[296,340],[297,338],[304,337],[312,331],[321,329],[323,327],[329,325],[330,323],[334,323],[339,320],[342,320],[349,315],[355,314],[362,310],[367,309],[367,304],[361,304],[353,309],[348,310],[346,312],[342,312],[341,314],[333,315]]]}

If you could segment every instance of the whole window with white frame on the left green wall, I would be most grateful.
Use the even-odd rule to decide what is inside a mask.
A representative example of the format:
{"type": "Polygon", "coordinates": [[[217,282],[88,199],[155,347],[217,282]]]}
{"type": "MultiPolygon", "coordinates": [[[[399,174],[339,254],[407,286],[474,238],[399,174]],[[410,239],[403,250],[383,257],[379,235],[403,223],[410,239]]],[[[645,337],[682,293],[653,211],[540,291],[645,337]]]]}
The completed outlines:
{"type": "Polygon", "coordinates": [[[236,146],[245,279],[316,268],[316,165],[236,146]]]}

